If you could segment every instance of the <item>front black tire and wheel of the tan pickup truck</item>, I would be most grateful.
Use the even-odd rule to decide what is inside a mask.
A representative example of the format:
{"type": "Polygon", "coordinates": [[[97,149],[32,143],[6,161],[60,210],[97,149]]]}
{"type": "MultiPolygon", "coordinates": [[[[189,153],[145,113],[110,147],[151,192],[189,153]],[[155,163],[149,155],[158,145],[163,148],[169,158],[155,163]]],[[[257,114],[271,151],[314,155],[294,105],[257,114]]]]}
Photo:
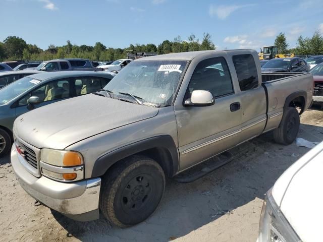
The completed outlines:
{"type": "Polygon", "coordinates": [[[128,227],[155,211],[164,194],[165,174],[156,161],[145,156],[131,156],[118,163],[102,178],[99,205],[105,218],[128,227]]]}

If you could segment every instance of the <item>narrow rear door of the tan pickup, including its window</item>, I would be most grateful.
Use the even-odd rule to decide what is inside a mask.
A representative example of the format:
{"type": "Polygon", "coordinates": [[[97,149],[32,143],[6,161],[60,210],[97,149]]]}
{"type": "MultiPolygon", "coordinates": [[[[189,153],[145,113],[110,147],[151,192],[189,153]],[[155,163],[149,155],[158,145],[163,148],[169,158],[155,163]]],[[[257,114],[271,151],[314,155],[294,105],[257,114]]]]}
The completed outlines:
{"type": "MultiPolygon", "coordinates": [[[[266,94],[251,54],[232,56],[239,83],[237,96],[241,102],[241,132],[239,143],[258,136],[266,124],[266,94]]],[[[259,70],[260,71],[260,70],[259,70]]]]}

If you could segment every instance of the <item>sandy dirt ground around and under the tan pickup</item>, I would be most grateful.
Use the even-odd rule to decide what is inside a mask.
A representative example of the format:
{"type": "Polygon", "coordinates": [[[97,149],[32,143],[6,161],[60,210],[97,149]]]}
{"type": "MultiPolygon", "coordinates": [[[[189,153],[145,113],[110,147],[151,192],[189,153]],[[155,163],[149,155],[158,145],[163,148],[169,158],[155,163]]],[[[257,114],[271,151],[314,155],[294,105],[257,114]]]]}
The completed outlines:
{"type": "MultiPolygon", "coordinates": [[[[301,116],[298,137],[323,140],[323,111],[301,116]]],[[[127,229],[34,206],[8,156],[0,159],[0,241],[255,241],[264,194],[308,150],[275,144],[272,133],[264,134],[232,149],[231,163],[192,183],[168,180],[154,214],[127,229]]]]}

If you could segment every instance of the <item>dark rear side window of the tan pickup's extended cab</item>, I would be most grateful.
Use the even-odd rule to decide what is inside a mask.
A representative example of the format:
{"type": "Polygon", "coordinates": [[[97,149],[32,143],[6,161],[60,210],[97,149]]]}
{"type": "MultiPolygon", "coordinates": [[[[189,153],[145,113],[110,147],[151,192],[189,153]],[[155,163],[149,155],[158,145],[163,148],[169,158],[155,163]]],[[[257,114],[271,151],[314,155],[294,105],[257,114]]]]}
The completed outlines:
{"type": "Polygon", "coordinates": [[[232,56],[233,64],[238,76],[241,91],[258,87],[258,73],[251,54],[238,54],[232,56]]]}

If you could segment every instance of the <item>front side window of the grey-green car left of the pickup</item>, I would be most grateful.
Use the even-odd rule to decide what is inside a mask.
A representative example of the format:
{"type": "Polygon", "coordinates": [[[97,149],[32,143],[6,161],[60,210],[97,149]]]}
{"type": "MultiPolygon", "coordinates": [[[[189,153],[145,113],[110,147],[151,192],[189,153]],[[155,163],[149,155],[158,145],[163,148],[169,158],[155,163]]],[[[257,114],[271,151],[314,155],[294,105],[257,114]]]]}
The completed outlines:
{"type": "Polygon", "coordinates": [[[28,93],[19,101],[19,105],[27,105],[27,100],[31,96],[37,96],[42,102],[57,100],[70,97],[70,82],[69,79],[61,79],[46,83],[28,93]]]}

